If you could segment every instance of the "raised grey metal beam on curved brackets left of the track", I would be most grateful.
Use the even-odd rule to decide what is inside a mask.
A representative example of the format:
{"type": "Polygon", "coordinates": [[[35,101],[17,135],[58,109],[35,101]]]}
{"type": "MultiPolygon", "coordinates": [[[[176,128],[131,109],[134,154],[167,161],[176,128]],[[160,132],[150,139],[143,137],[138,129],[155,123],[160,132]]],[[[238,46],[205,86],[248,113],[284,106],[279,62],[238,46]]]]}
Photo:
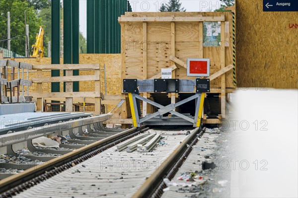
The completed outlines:
{"type": "MultiPolygon", "coordinates": [[[[3,134],[0,135],[0,147],[9,146],[27,140],[32,140],[37,137],[52,134],[54,132],[67,131],[73,128],[83,127],[86,125],[99,124],[100,122],[108,120],[111,116],[112,114],[103,114],[99,116],[82,118],[78,120],[70,120],[56,124],[46,124],[45,126],[29,129],[26,131],[3,134]]],[[[94,125],[94,127],[100,128],[98,125],[94,125]]]]}

